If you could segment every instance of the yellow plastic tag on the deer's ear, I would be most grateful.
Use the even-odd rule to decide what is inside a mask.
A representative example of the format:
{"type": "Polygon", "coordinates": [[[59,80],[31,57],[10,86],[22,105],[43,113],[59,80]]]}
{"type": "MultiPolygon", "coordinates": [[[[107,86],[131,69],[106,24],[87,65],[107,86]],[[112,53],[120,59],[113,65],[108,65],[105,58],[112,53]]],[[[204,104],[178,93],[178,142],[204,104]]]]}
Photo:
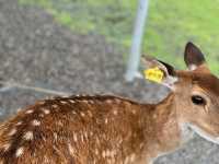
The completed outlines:
{"type": "Polygon", "coordinates": [[[158,67],[145,70],[143,73],[146,79],[157,83],[161,83],[164,75],[158,67]]]}

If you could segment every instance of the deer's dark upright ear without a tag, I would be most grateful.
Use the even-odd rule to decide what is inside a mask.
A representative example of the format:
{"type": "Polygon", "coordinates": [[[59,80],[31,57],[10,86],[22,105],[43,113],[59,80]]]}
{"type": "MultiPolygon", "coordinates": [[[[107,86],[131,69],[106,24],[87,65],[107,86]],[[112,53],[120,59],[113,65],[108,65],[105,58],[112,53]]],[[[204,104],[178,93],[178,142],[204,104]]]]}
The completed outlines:
{"type": "Polygon", "coordinates": [[[203,52],[193,43],[186,44],[185,51],[184,51],[184,60],[185,60],[187,68],[191,71],[194,71],[194,70],[200,69],[200,68],[206,71],[209,71],[209,69],[206,66],[206,60],[205,60],[203,52]]]}

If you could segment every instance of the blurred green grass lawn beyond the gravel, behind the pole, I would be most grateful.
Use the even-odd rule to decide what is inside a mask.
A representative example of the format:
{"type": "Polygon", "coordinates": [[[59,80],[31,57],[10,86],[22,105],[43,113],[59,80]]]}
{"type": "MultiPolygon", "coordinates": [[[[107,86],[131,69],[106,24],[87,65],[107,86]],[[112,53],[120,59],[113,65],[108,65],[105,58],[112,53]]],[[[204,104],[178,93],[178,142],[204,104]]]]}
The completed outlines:
{"type": "MultiPolygon", "coordinates": [[[[134,0],[19,0],[38,5],[55,20],[82,34],[100,34],[124,48],[131,43],[137,1],[134,0]]],[[[184,68],[182,55],[193,40],[219,74],[219,0],[150,0],[143,52],[184,68]]]]}

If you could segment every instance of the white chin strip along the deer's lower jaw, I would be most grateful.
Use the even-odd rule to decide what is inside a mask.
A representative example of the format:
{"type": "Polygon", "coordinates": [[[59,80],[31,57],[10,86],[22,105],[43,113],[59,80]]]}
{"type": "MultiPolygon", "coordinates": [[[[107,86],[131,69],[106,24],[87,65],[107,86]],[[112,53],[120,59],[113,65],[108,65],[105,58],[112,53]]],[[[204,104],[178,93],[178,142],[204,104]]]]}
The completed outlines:
{"type": "Polygon", "coordinates": [[[218,138],[212,137],[211,134],[207,133],[206,131],[204,131],[203,129],[200,129],[199,127],[197,127],[197,126],[195,126],[195,125],[188,124],[187,126],[188,126],[188,128],[191,128],[193,131],[195,131],[199,137],[206,139],[206,140],[209,141],[209,142],[219,144],[219,137],[218,137],[218,138]]]}

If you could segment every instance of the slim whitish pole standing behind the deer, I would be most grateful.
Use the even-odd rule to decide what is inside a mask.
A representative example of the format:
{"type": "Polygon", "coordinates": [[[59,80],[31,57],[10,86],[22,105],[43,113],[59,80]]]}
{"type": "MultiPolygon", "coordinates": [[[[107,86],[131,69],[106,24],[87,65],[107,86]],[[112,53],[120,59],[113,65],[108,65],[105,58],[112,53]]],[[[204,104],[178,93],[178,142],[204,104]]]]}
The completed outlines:
{"type": "Polygon", "coordinates": [[[135,22],[135,30],[132,35],[132,45],[130,49],[130,56],[127,65],[127,72],[125,75],[126,81],[132,81],[138,73],[138,67],[141,56],[141,44],[143,37],[143,30],[146,24],[146,17],[148,14],[149,0],[139,0],[138,13],[135,22]]]}

